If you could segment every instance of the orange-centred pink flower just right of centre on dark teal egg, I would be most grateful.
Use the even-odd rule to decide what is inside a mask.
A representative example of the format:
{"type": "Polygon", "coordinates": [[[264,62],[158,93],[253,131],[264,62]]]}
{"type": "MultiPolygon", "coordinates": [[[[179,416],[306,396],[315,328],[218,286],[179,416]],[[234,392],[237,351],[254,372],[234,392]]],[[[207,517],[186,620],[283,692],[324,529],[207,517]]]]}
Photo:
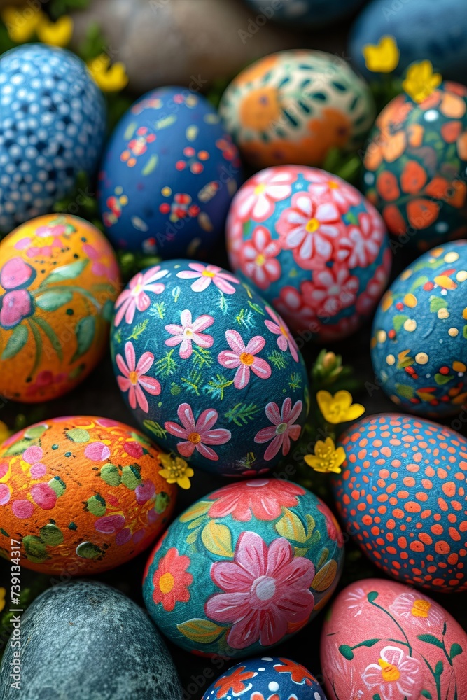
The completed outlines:
{"type": "Polygon", "coordinates": [[[218,354],[218,363],[228,370],[237,368],[234,377],[234,386],[242,389],[250,381],[250,370],[260,379],[268,379],[271,376],[271,367],[266,360],[256,357],[263,350],[265,339],[262,335],[255,335],[245,345],[242,336],[236,330],[226,330],[225,339],[230,345],[230,350],[223,350],[218,354]]]}

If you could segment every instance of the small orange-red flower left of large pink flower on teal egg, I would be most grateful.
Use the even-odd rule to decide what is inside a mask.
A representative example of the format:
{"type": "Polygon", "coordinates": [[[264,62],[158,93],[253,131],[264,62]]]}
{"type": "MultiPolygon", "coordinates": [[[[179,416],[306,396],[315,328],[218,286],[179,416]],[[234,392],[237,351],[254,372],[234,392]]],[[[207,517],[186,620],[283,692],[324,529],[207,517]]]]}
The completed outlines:
{"type": "Polygon", "coordinates": [[[190,563],[190,558],[180,555],[176,547],[171,547],[162,556],[153,575],[153,601],[156,605],[162,603],[162,608],[171,612],[175,603],[188,603],[188,587],[193,583],[193,576],[187,571],[190,563]]]}

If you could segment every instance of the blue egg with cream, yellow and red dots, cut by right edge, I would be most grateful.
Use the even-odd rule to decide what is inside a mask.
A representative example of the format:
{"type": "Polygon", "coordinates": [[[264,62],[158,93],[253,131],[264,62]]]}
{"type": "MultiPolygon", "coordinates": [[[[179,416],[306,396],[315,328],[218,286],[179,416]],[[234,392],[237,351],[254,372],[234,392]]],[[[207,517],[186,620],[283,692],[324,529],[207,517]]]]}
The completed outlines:
{"type": "Polygon", "coordinates": [[[382,298],[371,339],[377,385],[405,411],[459,412],[467,401],[466,339],[467,241],[453,241],[421,255],[382,298]]]}

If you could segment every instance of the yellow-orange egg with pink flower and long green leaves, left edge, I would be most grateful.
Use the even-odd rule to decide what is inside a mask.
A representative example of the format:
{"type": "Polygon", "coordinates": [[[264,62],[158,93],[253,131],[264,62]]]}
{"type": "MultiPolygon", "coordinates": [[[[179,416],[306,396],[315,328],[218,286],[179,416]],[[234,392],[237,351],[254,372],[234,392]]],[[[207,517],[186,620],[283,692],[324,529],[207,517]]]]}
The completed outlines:
{"type": "Polygon", "coordinates": [[[120,289],[115,253],[77,216],[27,221],[0,243],[0,395],[42,402],[80,383],[106,350],[120,289]]]}

